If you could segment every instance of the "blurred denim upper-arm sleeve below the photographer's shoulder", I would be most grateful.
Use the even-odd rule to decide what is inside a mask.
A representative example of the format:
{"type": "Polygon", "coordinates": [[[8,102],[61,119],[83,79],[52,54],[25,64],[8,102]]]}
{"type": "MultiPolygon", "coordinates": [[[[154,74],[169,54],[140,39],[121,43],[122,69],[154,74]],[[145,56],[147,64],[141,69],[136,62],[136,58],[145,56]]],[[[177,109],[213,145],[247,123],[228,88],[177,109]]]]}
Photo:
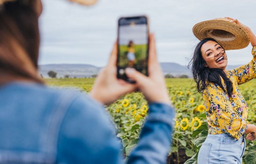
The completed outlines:
{"type": "Polygon", "coordinates": [[[122,164],[121,143],[104,106],[80,96],[69,107],[58,139],[58,163],[122,164]]]}

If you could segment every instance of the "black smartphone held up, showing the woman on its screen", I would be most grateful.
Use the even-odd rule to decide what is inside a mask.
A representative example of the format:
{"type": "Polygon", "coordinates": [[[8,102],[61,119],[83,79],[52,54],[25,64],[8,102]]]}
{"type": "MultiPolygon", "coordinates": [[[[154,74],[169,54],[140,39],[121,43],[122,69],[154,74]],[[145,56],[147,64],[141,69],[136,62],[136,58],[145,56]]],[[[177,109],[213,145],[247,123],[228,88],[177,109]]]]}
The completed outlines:
{"type": "Polygon", "coordinates": [[[147,16],[121,17],[117,34],[117,78],[126,82],[132,79],[125,75],[125,68],[132,67],[148,75],[149,28],[147,16]]]}

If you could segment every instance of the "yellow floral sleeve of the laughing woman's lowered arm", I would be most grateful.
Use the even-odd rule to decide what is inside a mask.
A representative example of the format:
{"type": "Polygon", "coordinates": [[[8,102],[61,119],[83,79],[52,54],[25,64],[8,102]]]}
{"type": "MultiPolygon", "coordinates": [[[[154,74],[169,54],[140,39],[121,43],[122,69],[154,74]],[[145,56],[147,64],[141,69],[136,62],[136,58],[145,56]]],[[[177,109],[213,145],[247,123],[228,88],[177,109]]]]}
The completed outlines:
{"type": "Polygon", "coordinates": [[[239,139],[247,129],[247,122],[233,110],[229,98],[223,90],[218,89],[213,83],[209,83],[203,93],[206,112],[214,112],[217,122],[223,133],[239,139]]]}

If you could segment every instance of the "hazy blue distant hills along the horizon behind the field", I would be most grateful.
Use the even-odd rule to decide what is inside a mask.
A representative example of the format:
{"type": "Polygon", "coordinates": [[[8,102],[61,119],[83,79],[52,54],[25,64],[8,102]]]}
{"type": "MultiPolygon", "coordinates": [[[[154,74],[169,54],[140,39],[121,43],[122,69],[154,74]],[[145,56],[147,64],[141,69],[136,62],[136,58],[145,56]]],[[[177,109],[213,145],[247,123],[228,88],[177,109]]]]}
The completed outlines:
{"type": "MultiPolygon", "coordinates": [[[[163,74],[171,74],[174,76],[178,75],[188,75],[192,76],[190,70],[186,66],[179,65],[172,62],[163,62],[160,63],[163,74]]],[[[227,70],[234,69],[240,66],[227,66],[227,70]]],[[[48,78],[47,73],[49,71],[54,71],[57,73],[57,77],[64,77],[69,75],[70,77],[91,77],[92,75],[98,74],[101,70],[101,67],[96,67],[90,64],[47,64],[40,65],[39,72],[43,77],[48,78]]]]}

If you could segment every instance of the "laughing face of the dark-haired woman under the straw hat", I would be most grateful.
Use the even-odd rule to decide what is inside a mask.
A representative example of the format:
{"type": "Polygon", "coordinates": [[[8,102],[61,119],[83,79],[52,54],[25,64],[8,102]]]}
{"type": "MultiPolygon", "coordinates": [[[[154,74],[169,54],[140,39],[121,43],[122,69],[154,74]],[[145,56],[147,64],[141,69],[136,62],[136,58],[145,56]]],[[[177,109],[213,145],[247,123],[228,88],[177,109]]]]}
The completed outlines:
{"type": "Polygon", "coordinates": [[[201,47],[202,58],[205,60],[205,67],[220,68],[225,70],[227,56],[221,45],[214,41],[207,41],[201,47]]]}

